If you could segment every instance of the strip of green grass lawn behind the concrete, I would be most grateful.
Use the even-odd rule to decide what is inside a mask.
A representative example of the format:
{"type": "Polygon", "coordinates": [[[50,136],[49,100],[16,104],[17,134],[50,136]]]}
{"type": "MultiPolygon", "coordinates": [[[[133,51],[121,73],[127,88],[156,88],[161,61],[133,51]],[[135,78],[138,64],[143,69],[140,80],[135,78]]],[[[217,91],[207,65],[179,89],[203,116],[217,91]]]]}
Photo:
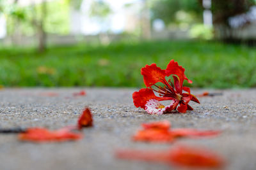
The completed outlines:
{"type": "Polygon", "coordinates": [[[166,68],[174,59],[193,87],[256,87],[256,49],[216,42],[152,41],[109,46],[0,49],[0,85],[6,87],[144,87],[141,67],[166,68]]]}

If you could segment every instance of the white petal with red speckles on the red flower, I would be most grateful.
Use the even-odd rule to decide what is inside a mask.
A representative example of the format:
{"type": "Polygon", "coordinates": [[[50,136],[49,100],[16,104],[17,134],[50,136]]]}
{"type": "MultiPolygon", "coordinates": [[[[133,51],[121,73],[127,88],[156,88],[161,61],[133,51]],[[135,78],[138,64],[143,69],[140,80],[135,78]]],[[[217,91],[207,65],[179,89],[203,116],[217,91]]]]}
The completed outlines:
{"type": "Polygon", "coordinates": [[[151,115],[163,115],[163,113],[166,112],[166,110],[173,110],[173,103],[174,101],[172,101],[172,103],[168,106],[164,106],[156,99],[150,99],[145,104],[145,111],[147,111],[151,115]]]}

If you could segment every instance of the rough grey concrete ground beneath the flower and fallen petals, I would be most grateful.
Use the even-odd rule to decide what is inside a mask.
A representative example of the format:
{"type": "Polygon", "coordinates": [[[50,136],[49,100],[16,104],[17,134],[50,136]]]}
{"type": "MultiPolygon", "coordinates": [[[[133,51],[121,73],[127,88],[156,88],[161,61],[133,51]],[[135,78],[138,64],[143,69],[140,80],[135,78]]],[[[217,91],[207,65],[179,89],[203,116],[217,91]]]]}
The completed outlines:
{"type": "MultiPolygon", "coordinates": [[[[117,148],[166,150],[172,144],[135,143],[131,136],[143,122],[170,120],[173,128],[220,129],[212,139],[179,139],[204,146],[227,160],[224,169],[256,169],[256,90],[223,90],[223,96],[201,97],[186,114],[148,115],[135,108],[136,89],[85,89],[85,97],[72,97],[80,89],[4,89],[0,91],[0,127],[74,125],[84,106],[92,108],[94,127],[84,129],[80,141],[35,144],[20,142],[16,134],[0,134],[0,169],[176,169],[165,164],[114,157],[117,148]],[[57,92],[60,96],[44,96],[57,92]]],[[[199,94],[204,90],[192,90],[199,94]]],[[[221,92],[220,90],[210,90],[221,92]]]]}

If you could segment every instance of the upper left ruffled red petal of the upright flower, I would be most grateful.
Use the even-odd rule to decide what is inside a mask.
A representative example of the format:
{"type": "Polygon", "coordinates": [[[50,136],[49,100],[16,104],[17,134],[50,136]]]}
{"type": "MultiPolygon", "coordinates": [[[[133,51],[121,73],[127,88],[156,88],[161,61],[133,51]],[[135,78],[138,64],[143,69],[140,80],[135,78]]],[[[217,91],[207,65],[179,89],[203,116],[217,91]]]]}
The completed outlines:
{"type": "Polygon", "coordinates": [[[155,63],[143,67],[141,69],[141,74],[143,75],[146,87],[150,87],[157,82],[164,80],[166,76],[165,70],[157,67],[155,63]]]}

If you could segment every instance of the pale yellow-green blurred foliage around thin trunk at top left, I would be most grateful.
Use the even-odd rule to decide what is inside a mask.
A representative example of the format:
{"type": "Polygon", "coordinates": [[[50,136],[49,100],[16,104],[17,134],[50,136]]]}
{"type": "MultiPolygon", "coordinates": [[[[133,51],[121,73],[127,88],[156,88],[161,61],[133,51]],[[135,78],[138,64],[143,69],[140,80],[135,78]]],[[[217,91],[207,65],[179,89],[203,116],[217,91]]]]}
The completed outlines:
{"type": "MultiPolygon", "coordinates": [[[[41,17],[42,4],[18,6],[13,3],[2,3],[2,11],[7,18],[8,34],[19,31],[31,36],[36,33],[35,25],[41,17]]],[[[47,17],[44,29],[48,33],[67,34],[69,32],[69,0],[47,3],[47,17]]]]}

